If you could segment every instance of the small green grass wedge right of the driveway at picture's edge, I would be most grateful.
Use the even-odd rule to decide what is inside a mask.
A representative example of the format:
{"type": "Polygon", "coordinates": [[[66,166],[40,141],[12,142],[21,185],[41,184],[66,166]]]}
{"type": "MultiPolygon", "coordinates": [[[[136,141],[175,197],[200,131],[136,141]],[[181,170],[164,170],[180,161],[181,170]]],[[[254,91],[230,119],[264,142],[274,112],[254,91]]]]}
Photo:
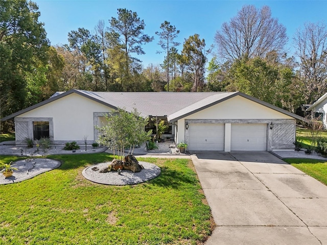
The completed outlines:
{"type": "Polygon", "coordinates": [[[286,158],[283,160],[327,185],[327,159],[286,158]]]}

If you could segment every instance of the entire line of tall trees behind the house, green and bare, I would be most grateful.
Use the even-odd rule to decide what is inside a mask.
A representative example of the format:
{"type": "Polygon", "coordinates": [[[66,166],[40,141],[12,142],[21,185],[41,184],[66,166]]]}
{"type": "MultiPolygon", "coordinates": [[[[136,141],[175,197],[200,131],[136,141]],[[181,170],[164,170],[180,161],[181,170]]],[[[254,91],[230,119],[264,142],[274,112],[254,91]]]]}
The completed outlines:
{"type": "Polygon", "coordinates": [[[118,9],[94,30],[68,33],[50,45],[33,2],[0,0],[0,116],[49,99],[56,91],[241,91],[295,112],[327,92],[327,29],[305,23],[285,53],[286,28],[268,6],[245,5],[222,24],[206,46],[198,34],[175,41],[179,30],[164,21],[155,33],[162,64],[142,66],[137,57],[154,37],[136,12],[118,9]],[[107,24],[107,26],[106,26],[107,24]],[[208,60],[208,54],[214,58],[208,60]]]}

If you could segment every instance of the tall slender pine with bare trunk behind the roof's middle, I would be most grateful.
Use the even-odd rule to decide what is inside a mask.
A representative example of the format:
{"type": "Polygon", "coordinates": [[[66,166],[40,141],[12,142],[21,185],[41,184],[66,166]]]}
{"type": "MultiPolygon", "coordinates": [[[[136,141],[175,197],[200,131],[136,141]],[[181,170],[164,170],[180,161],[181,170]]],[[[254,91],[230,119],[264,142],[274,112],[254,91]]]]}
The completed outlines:
{"type": "Polygon", "coordinates": [[[160,40],[158,44],[162,47],[162,49],[167,52],[167,91],[169,91],[169,47],[178,46],[179,42],[174,42],[174,39],[177,37],[179,30],[176,30],[175,26],[172,26],[170,22],[165,20],[164,23],[161,23],[160,29],[161,32],[155,32],[156,35],[159,36],[160,40]]]}

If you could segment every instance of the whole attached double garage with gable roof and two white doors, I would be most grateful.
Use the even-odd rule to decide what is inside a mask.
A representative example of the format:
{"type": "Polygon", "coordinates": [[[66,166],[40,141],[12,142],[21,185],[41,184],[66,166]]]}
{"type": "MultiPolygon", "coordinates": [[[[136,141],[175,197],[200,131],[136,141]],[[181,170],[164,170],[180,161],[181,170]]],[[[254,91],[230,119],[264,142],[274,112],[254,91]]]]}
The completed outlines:
{"type": "Polygon", "coordinates": [[[294,149],[301,117],[246,94],[214,94],[168,116],[176,142],[192,151],[280,151],[294,149]]]}

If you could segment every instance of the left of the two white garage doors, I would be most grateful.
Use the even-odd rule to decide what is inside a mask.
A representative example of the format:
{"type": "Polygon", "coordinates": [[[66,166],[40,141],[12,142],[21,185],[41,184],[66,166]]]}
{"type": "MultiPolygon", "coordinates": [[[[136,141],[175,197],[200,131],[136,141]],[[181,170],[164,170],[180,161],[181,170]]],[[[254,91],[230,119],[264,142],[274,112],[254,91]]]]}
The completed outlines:
{"type": "Polygon", "coordinates": [[[190,124],[189,129],[190,151],[223,151],[224,125],[223,124],[190,124]]]}

